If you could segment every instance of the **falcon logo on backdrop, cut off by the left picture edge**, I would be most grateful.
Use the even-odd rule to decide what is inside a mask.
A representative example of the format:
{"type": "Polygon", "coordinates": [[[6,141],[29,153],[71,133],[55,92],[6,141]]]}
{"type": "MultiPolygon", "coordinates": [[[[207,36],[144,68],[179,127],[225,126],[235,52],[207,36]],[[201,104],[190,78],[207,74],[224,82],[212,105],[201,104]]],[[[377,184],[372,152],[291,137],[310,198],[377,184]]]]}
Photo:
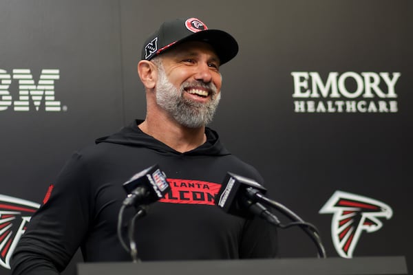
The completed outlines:
{"type": "Polygon", "coordinates": [[[40,204],[0,195],[0,265],[10,269],[10,257],[32,214],[40,204]]]}

